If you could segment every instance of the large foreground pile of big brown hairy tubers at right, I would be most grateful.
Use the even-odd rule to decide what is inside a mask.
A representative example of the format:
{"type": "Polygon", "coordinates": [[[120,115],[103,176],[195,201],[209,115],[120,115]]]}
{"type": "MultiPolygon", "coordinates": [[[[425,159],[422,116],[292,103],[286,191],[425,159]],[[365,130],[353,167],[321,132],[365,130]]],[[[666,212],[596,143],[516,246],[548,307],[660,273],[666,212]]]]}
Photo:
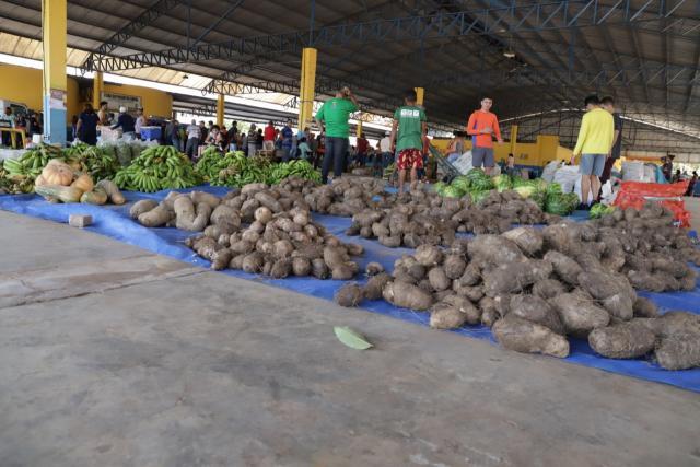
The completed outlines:
{"type": "Polygon", "coordinates": [[[569,337],[612,359],[653,353],[666,370],[700,366],[700,316],[660,316],[634,289],[692,290],[700,252],[657,205],[615,210],[585,223],[421,245],[366,285],[348,284],[345,306],[383,297],[430,312],[439,329],[483,324],[506,349],[564,358],[569,337]]]}

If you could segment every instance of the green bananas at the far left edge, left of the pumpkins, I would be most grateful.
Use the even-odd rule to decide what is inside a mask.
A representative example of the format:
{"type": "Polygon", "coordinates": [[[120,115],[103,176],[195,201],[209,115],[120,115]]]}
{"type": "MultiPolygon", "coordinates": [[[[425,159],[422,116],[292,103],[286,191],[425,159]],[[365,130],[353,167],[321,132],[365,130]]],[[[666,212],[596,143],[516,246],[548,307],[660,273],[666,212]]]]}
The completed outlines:
{"type": "Polygon", "coordinates": [[[50,144],[39,144],[18,159],[5,159],[0,171],[3,188],[12,194],[34,191],[34,180],[51,159],[61,157],[61,149],[50,144]]]}

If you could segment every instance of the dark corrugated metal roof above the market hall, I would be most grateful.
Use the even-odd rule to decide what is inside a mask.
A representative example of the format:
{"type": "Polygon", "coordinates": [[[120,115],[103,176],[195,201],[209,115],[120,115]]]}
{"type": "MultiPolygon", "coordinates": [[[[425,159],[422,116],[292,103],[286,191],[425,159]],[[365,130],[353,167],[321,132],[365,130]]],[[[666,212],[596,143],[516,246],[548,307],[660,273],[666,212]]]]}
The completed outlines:
{"type": "MultiPolygon", "coordinates": [[[[69,0],[69,63],[80,66],[88,56],[85,51],[96,50],[117,31],[161,2],[162,0],[69,0]]],[[[148,25],[139,27],[109,54],[125,56],[187,47],[207,33],[210,26],[214,27],[202,38],[202,44],[220,43],[232,37],[305,31],[310,26],[310,2],[303,0],[245,1],[226,17],[223,17],[224,12],[235,3],[233,0],[198,0],[192,2],[191,10],[186,3],[172,2],[172,8],[155,15],[158,17],[148,25]]],[[[482,15],[477,17],[480,21],[477,28],[488,24],[504,24],[504,27],[493,27],[488,34],[477,32],[460,37],[429,37],[424,40],[381,44],[354,40],[347,45],[339,43],[320,47],[319,75],[348,82],[358,77],[387,77],[370,79],[364,85],[355,86],[357,93],[366,104],[395,100],[400,97],[401,90],[423,85],[427,87],[425,106],[429,115],[453,122],[463,121],[485,93],[494,98],[494,109],[501,116],[512,117],[557,106],[580,105],[586,93],[598,92],[615,95],[627,113],[646,118],[663,118],[672,125],[700,131],[700,84],[689,81],[693,75],[696,82],[700,81],[700,73],[693,73],[693,70],[700,68],[700,12],[697,11],[697,2],[599,1],[596,8],[602,12],[607,11],[606,9],[612,12],[610,20],[600,25],[562,27],[557,24],[557,27],[530,31],[514,27],[535,21],[534,16],[522,13],[524,10],[506,16],[493,7],[545,3],[530,0],[316,0],[315,27],[459,11],[482,15]],[[616,8],[628,3],[632,11],[646,10],[637,15],[640,21],[634,24],[620,25],[622,12],[616,8]],[[655,19],[657,13],[665,12],[669,14],[667,20],[655,19]],[[506,23],[513,27],[505,26],[506,23]],[[512,49],[515,58],[505,58],[505,49],[512,49]],[[655,72],[653,67],[664,69],[655,72]],[[678,73],[679,67],[687,69],[678,73]],[[479,79],[480,73],[489,70],[499,70],[502,77],[494,79],[493,74],[487,74],[486,79],[479,79]],[[527,78],[528,73],[533,73],[532,70],[537,70],[540,75],[548,74],[551,79],[542,82],[541,77],[535,80],[527,78]],[[595,75],[602,70],[607,70],[604,79],[590,82],[575,79],[584,73],[595,75]],[[521,74],[525,78],[510,78],[521,74]],[[454,79],[431,84],[436,78],[444,75],[454,79]],[[678,86],[678,83],[684,85],[678,86]]],[[[582,0],[571,1],[564,8],[584,3],[582,0]]],[[[593,7],[584,11],[583,16],[591,14],[592,10],[593,7]]],[[[37,39],[40,34],[39,11],[40,0],[0,0],[0,30],[37,39]]],[[[550,25],[555,25],[553,22],[550,25]]],[[[36,40],[0,36],[0,51],[40,58],[40,47],[36,40]]],[[[245,56],[240,60],[185,61],[172,66],[175,71],[141,68],[119,74],[203,87],[211,78],[237,70],[242,62],[249,62],[252,58],[245,56]],[[183,82],[185,73],[189,78],[183,82]]],[[[245,69],[237,80],[255,82],[299,79],[298,54],[276,55],[269,60],[260,61],[245,69]]],[[[281,102],[285,97],[262,94],[258,98],[281,102]]]]}

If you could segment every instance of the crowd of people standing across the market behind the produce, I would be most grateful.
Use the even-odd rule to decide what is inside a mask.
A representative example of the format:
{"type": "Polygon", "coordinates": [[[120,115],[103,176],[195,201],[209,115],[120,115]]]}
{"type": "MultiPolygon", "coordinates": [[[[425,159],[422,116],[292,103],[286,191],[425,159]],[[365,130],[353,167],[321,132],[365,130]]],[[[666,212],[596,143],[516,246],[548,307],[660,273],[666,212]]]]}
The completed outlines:
{"type": "MultiPolygon", "coordinates": [[[[230,128],[208,125],[195,119],[189,125],[180,125],[177,120],[161,122],[161,143],[176,147],[191,160],[198,159],[202,151],[215,147],[222,152],[242,151],[247,156],[254,156],[259,151],[277,153],[282,161],[302,159],[320,167],[323,182],[329,177],[339,177],[349,166],[373,168],[374,175],[381,174],[383,168],[396,163],[398,172],[398,188],[404,190],[406,179],[410,177],[415,186],[424,177],[424,166],[428,161],[427,116],[422,106],[417,105],[415,91],[405,94],[405,105],[394,113],[390,133],[384,135],[375,147],[372,147],[364,135],[358,135],[357,144],[350,145],[349,135],[350,115],[359,109],[354,94],[348,87],[338,91],[334,98],[327,101],[318,109],[315,121],[319,132],[317,135],[306,127],[294,131],[292,120],[287,120],[281,128],[276,128],[273,121],[268,121],[265,128],[255,124],[248,130],[238,129],[233,121],[230,128]]],[[[493,101],[483,97],[480,108],[469,115],[465,131],[455,131],[446,154],[447,160],[454,162],[466,149],[466,138],[471,138],[472,166],[483,167],[491,174],[495,165],[493,143],[503,142],[499,120],[491,112],[493,101]]],[[[571,163],[580,157],[582,174],[581,191],[583,202],[580,209],[590,209],[600,195],[600,187],[610,179],[611,170],[620,157],[622,145],[622,119],[616,110],[612,97],[598,98],[591,95],[585,98],[584,114],[576,145],[573,150],[571,163]]],[[[108,112],[107,102],[101,102],[95,110],[86,103],[83,112],[73,117],[73,138],[88,144],[96,144],[100,128],[120,129],[127,138],[141,138],[141,129],[148,120],[142,108],[131,115],[126,107],[120,107],[117,115],[108,112]]],[[[40,115],[15,116],[11,108],[7,108],[0,120],[9,120],[12,127],[23,127],[28,135],[40,133],[40,115]]],[[[9,145],[9,133],[3,133],[2,143],[9,145]],[[5,141],[8,140],[8,141],[5,141]]],[[[689,177],[679,170],[673,171],[674,156],[662,160],[662,173],[668,183],[689,178],[688,194],[692,195],[697,172],[689,177]]],[[[509,154],[508,162],[501,161],[502,171],[515,173],[513,154],[509,154]]]]}

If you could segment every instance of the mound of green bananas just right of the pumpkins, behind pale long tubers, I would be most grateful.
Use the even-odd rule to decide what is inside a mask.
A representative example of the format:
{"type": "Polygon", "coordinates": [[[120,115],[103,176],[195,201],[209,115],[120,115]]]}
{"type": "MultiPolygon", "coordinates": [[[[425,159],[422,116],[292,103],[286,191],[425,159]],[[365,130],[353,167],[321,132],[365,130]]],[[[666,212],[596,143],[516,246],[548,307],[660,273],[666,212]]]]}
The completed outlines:
{"type": "Polygon", "coordinates": [[[114,182],[129,191],[154,192],[191,188],[202,180],[189,160],[174,147],[154,145],[141,152],[131,165],[117,172],[114,182]]]}

